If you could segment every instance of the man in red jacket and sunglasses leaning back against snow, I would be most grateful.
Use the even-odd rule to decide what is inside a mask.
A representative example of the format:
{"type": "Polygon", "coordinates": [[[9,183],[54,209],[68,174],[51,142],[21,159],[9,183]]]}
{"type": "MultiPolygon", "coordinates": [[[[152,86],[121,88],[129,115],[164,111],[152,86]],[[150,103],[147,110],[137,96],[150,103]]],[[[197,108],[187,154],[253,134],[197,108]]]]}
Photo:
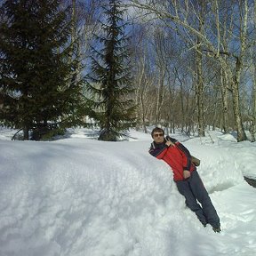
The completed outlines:
{"type": "Polygon", "coordinates": [[[192,162],[188,148],[169,136],[165,139],[164,130],[158,127],[153,129],[151,136],[154,141],[151,143],[149,153],[157,159],[163,159],[171,166],[173,180],[180,194],[185,196],[188,208],[196,213],[204,227],[209,223],[214,232],[220,232],[220,218],[196,171],[196,165],[192,162]]]}

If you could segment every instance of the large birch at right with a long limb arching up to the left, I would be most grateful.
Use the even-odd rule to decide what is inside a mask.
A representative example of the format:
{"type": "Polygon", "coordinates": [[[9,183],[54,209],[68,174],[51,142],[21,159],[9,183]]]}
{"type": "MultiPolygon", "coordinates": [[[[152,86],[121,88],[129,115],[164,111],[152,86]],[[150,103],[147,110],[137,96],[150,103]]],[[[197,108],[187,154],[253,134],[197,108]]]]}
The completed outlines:
{"type": "MultiPolygon", "coordinates": [[[[215,5],[220,4],[220,2],[221,1],[216,0],[215,5]]],[[[239,47],[239,51],[236,51],[236,49],[234,50],[231,47],[230,49],[228,49],[228,52],[224,52],[224,49],[221,45],[220,33],[218,33],[218,26],[220,26],[221,20],[218,20],[218,12],[215,12],[216,19],[214,23],[216,23],[217,25],[214,25],[214,29],[212,29],[213,20],[211,20],[211,15],[209,15],[207,18],[205,18],[206,20],[208,19],[207,27],[205,26],[204,30],[200,31],[200,29],[196,28],[195,22],[191,22],[191,20],[189,19],[192,15],[196,17],[196,19],[200,22],[199,13],[196,12],[197,2],[185,0],[183,2],[145,1],[141,3],[141,1],[138,0],[131,0],[131,3],[133,7],[145,10],[151,15],[154,14],[155,18],[162,20],[166,27],[178,31],[181,35],[184,35],[191,39],[196,36],[202,42],[202,47],[204,47],[204,51],[208,52],[208,57],[219,61],[220,66],[223,68],[223,70],[225,70],[225,72],[227,72],[226,81],[230,83],[229,86],[231,87],[231,92],[233,95],[233,109],[236,120],[237,141],[246,140],[239,102],[239,86],[241,72],[244,67],[244,53],[247,42],[247,0],[237,0],[231,2],[231,4],[235,4],[237,7],[236,9],[239,10],[239,17],[241,17],[241,19],[236,20],[236,22],[238,21],[238,23],[236,23],[236,28],[239,28],[239,36],[236,37],[236,35],[233,35],[233,38],[236,39],[236,45],[237,47],[239,47]],[[233,60],[227,61],[227,56],[229,59],[233,60]]],[[[211,3],[212,1],[205,1],[206,5],[211,5],[211,3]]],[[[216,10],[218,9],[215,8],[215,11],[216,10]]],[[[211,13],[212,12],[214,13],[213,8],[211,13]]],[[[234,31],[229,31],[229,33],[234,33],[234,31]]],[[[193,43],[193,40],[191,40],[191,43],[193,43]]],[[[191,45],[193,46],[193,44],[191,45]]]]}

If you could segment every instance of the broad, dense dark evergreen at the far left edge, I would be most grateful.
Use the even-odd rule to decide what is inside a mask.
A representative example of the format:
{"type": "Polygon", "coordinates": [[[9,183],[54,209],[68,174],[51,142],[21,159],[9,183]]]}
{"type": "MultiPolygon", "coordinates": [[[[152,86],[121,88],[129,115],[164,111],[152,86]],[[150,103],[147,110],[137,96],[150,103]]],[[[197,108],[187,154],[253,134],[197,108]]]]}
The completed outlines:
{"type": "Polygon", "coordinates": [[[23,130],[24,140],[80,121],[80,86],[70,79],[76,60],[68,61],[70,15],[60,4],[5,0],[0,9],[0,120],[23,130]]]}

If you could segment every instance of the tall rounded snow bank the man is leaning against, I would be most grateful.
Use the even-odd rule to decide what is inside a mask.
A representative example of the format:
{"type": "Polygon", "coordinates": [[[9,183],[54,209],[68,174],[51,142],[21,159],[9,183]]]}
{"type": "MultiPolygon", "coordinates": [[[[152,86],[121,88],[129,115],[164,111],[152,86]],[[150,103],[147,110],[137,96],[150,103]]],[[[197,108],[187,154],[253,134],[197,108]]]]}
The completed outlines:
{"type": "Polygon", "coordinates": [[[166,165],[127,143],[0,143],[1,255],[127,255],[170,196],[166,165]]]}

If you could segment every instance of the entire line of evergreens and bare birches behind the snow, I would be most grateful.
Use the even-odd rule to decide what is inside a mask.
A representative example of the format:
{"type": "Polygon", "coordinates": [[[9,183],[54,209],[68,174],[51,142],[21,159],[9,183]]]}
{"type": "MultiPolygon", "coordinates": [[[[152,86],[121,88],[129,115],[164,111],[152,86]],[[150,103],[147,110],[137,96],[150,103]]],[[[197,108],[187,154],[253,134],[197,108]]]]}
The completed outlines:
{"type": "Polygon", "coordinates": [[[255,26],[249,0],[5,0],[1,123],[25,140],[90,123],[100,140],[154,124],[255,141],[255,26]]]}

